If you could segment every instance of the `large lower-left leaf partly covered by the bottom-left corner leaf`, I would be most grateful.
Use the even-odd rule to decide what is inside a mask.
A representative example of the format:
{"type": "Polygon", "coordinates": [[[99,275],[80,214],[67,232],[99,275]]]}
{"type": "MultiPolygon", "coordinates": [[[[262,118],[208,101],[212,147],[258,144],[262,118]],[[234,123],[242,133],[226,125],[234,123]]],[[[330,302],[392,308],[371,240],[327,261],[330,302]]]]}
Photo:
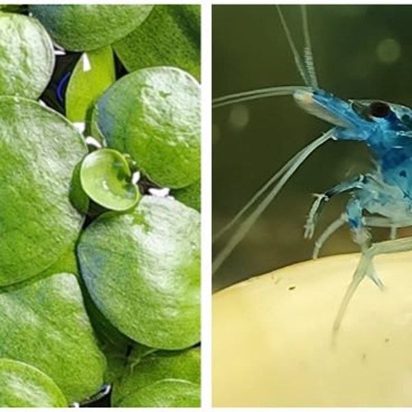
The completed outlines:
{"type": "Polygon", "coordinates": [[[0,293],[0,357],[37,367],[80,401],[102,385],[98,349],[74,275],[52,275],[0,293]]]}

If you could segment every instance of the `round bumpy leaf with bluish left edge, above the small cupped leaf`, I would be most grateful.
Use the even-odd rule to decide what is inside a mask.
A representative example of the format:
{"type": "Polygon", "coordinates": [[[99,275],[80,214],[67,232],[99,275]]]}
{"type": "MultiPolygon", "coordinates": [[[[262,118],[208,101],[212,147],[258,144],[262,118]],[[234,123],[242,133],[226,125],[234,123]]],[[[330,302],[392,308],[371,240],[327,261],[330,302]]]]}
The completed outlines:
{"type": "Polygon", "coordinates": [[[141,69],[98,101],[94,121],[108,146],[127,152],[162,187],[200,178],[200,86],[174,67],[141,69]]]}

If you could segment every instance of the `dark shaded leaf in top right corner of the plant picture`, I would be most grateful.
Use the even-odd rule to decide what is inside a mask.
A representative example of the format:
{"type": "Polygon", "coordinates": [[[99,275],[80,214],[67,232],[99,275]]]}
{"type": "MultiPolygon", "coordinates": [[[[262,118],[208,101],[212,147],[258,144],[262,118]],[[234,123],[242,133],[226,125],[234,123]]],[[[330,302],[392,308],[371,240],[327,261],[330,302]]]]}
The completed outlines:
{"type": "Polygon", "coordinates": [[[199,80],[200,20],[200,5],[156,5],[144,23],[113,47],[128,71],[175,66],[199,80]]]}

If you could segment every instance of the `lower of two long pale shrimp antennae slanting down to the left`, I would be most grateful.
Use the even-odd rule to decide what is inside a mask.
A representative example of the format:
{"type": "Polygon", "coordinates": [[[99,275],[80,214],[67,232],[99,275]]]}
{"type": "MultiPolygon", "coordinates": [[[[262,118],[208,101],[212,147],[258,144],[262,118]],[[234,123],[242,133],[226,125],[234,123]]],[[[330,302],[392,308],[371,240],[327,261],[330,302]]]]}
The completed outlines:
{"type": "MultiPolygon", "coordinates": [[[[284,173],[282,176],[279,176],[277,174],[277,177],[279,177],[279,181],[273,187],[266,196],[262,199],[262,201],[257,205],[257,207],[251,212],[251,214],[244,219],[242,223],[240,223],[238,229],[236,229],[235,233],[233,233],[233,236],[231,236],[229,242],[225,245],[225,247],[218,253],[216,256],[216,259],[214,259],[212,263],[212,273],[216,273],[218,268],[222,265],[223,262],[227,259],[229,254],[235,249],[235,247],[238,245],[238,243],[244,238],[246,233],[251,229],[251,227],[255,224],[256,220],[260,218],[262,213],[265,211],[266,207],[271,204],[275,196],[282,190],[282,187],[286,184],[286,182],[290,179],[290,176],[295,173],[297,168],[308,158],[309,155],[314,152],[319,146],[325,143],[325,141],[328,141],[329,139],[332,138],[334,135],[335,128],[332,128],[328,130],[328,132],[324,133],[319,137],[318,139],[312,141],[308,146],[304,147],[295,157],[293,158],[293,161],[289,161],[286,163],[284,168],[282,168],[282,171],[284,173]],[[292,163],[292,164],[291,164],[292,163]]],[[[269,182],[268,182],[269,183],[269,182]]],[[[262,193],[264,188],[268,186],[268,183],[262,187],[261,190],[259,190],[258,193],[262,193]]],[[[274,183],[273,179],[271,179],[270,183],[274,183]]],[[[255,200],[255,196],[253,196],[252,200],[255,200]]],[[[249,205],[249,203],[248,203],[249,205]]],[[[243,211],[243,209],[242,209],[243,211]]],[[[240,216],[236,215],[236,219],[238,219],[240,216]]],[[[232,222],[233,223],[233,222],[232,222]]]]}

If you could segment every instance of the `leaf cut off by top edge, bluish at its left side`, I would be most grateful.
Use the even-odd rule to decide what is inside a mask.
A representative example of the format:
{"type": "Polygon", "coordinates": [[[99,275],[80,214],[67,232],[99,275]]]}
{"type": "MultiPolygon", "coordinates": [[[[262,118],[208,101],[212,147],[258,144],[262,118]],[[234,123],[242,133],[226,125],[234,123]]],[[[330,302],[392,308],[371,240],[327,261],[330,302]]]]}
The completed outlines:
{"type": "Polygon", "coordinates": [[[30,11],[54,41],[73,51],[110,45],[140,25],[152,8],[152,5],[30,5],[30,11]]]}

